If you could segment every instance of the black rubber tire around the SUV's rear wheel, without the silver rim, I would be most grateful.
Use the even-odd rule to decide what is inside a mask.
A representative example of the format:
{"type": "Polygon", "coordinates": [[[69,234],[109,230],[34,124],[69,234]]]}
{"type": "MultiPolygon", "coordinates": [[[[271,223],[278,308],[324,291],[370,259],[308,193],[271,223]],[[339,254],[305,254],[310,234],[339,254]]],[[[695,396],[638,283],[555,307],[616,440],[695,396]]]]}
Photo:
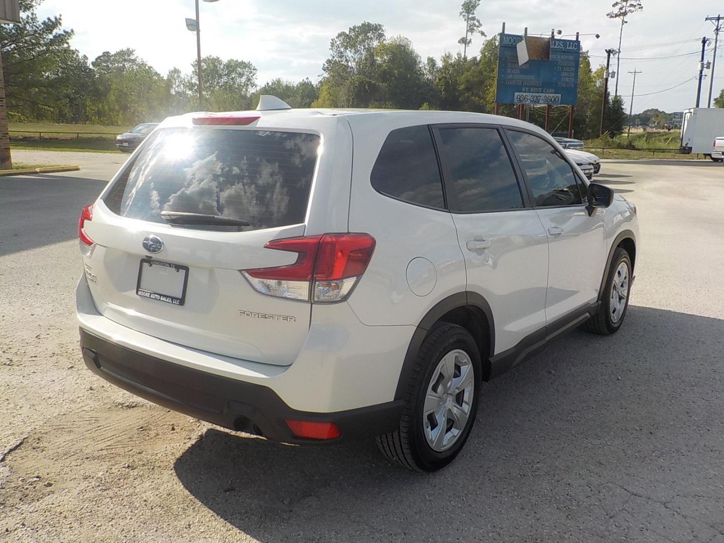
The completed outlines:
{"type": "Polygon", "coordinates": [[[463,327],[442,323],[432,329],[420,346],[412,376],[405,392],[400,426],[390,434],[376,437],[377,446],[389,460],[414,471],[437,471],[455,460],[475,423],[481,390],[482,365],[475,340],[463,327]],[[465,351],[473,369],[471,411],[453,445],[442,452],[433,450],[425,437],[423,405],[427,387],[442,358],[451,350],[465,351]]]}

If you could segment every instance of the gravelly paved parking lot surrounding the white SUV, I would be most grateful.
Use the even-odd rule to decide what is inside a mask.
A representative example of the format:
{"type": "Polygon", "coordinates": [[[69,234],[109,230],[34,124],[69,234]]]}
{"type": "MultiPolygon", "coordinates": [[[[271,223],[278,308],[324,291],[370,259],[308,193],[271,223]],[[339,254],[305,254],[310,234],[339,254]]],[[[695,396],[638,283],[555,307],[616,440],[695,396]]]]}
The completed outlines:
{"type": "Polygon", "coordinates": [[[77,216],[125,156],[88,160],[0,178],[0,541],[724,543],[721,164],[604,162],[639,209],[626,324],[486,384],[458,460],[420,475],[371,442],[227,432],[85,369],[77,216]]]}

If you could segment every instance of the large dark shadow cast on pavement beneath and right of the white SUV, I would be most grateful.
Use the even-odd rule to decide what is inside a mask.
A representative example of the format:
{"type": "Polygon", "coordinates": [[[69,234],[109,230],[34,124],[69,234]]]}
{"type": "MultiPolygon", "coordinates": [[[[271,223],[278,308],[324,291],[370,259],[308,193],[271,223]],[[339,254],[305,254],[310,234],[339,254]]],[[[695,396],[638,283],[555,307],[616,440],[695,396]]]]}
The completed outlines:
{"type": "Polygon", "coordinates": [[[392,466],[372,442],[217,429],[174,470],[264,543],[692,541],[724,531],[723,352],[723,320],[631,306],[615,336],[573,332],[484,384],[466,448],[438,473],[392,466]]]}

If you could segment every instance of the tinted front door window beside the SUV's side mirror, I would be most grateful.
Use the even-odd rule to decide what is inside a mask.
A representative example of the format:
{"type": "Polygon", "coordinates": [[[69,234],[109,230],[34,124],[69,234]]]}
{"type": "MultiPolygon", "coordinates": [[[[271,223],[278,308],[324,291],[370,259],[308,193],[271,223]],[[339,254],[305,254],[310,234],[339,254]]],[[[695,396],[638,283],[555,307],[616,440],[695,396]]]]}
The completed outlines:
{"type": "Polygon", "coordinates": [[[521,159],[536,206],[571,206],[581,203],[576,174],[555,147],[543,138],[526,132],[509,130],[508,137],[521,159]]]}

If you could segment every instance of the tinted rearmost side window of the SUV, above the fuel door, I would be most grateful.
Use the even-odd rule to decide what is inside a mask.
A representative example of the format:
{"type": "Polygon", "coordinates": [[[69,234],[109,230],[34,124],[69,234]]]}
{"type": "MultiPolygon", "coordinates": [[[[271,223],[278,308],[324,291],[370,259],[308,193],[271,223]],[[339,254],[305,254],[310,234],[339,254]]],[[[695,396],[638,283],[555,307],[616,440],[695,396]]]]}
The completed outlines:
{"type": "Polygon", "coordinates": [[[445,207],[432,136],[426,125],[392,130],[370,176],[380,193],[421,206],[445,207]]]}

